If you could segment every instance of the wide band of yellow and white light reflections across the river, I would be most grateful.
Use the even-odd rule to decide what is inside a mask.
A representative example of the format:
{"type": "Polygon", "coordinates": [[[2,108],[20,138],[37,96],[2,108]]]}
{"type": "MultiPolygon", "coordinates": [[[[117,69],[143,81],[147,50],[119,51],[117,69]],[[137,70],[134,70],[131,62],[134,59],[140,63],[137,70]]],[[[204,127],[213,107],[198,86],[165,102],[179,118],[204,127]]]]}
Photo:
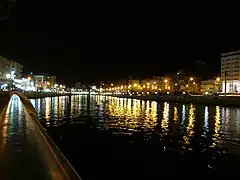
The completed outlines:
{"type": "Polygon", "coordinates": [[[68,96],[31,100],[39,116],[50,122],[85,119],[84,123],[88,118],[88,101],[90,117],[99,131],[128,135],[156,131],[156,134],[168,135],[170,139],[178,136],[182,146],[191,146],[194,139],[202,137],[201,143],[210,139],[209,146],[212,148],[224,140],[240,139],[238,108],[158,103],[109,96],[91,96],[88,99],[87,95],[72,96],[71,100],[68,96]]]}

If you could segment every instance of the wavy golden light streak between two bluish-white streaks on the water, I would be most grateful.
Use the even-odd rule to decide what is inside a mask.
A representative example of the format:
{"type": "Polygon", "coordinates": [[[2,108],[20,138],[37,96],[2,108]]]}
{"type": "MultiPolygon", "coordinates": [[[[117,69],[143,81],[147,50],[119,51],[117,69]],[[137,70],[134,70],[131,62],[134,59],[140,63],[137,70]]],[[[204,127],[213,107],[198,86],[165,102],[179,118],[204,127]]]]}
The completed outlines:
{"type": "Polygon", "coordinates": [[[183,137],[185,144],[190,144],[190,141],[194,136],[195,107],[193,104],[190,104],[188,119],[187,135],[183,137]]]}

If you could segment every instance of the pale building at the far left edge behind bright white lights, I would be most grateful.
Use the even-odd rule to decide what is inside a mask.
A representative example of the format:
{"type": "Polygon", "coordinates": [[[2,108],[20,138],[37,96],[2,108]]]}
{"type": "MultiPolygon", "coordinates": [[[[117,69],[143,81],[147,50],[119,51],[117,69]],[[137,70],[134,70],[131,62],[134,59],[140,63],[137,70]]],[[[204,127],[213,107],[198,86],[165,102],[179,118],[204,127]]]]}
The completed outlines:
{"type": "Polygon", "coordinates": [[[6,79],[6,75],[11,74],[11,72],[14,72],[16,79],[20,79],[22,77],[23,65],[0,56],[0,78],[6,79]]]}

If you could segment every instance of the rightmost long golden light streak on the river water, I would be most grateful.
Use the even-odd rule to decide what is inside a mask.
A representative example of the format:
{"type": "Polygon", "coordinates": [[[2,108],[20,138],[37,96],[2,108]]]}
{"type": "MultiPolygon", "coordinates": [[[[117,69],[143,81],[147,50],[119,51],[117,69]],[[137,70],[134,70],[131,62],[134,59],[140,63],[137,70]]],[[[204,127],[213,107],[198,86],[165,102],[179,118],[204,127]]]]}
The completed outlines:
{"type": "Polygon", "coordinates": [[[211,147],[215,147],[217,144],[220,143],[220,131],[221,131],[221,112],[220,107],[216,106],[216,115],[215,115],[215,128],[214,134],[212,137],[213,143],[211,147]]]}

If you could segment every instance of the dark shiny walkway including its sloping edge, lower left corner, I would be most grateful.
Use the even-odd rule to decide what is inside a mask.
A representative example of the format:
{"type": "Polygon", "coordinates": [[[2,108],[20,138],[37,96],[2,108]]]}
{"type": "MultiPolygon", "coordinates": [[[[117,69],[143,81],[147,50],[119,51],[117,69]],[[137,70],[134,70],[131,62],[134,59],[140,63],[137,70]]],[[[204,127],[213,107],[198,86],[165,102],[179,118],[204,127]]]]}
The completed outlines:
{"type": "Polygon", "coordinates": [[[20,98],[13,95],[6,107],[0,116],[0,179],[73,179],[20,98]]]}

